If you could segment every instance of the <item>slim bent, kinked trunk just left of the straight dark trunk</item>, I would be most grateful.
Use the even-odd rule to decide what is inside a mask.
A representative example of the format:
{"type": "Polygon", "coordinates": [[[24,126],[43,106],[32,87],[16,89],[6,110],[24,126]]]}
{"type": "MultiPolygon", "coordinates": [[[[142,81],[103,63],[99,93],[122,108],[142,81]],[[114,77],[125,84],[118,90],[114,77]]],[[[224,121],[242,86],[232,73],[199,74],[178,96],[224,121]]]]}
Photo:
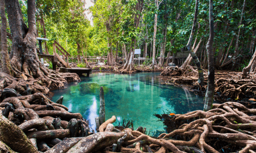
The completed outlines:
{"type": "Polygon", "coordinates": [[[187,42],[187,49],[191,55],[191,57],[193,57],[196,65],[197,65],[197,69],[198,69],[198,83],[199,85],[202,87],[203,86],[203,81],[204,81],[204,73],[203,73],[203,69],[201,66],[201,63],[197,57],[197,55],[193,52],[193,48],[191,48],[191,43],[192,43],[192,39],[195,33],[195,29],[196,29],[196,22],[197,22],[197,14],[198,14],[198,2],[199,0],[196,1],[196,6],[195,6],[195,16],[194,16],[194,22],[193,22],[193,26],[192,26],[192,30],[191,30],[191,34],[189,36],[189,40],[187,42]]]}

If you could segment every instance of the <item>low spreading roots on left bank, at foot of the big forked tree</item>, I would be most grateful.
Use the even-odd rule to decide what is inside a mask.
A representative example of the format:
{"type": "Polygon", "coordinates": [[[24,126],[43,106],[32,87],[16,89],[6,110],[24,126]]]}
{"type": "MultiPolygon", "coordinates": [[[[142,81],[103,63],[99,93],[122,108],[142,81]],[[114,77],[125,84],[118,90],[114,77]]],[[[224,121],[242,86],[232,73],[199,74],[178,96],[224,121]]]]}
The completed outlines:
{"type": "Polygon", "coordinates": [[[80,81],[76,73],[58,73],[49,69],[47,69],[47,75],[36,79],[22,72],[20,74],[23,74],[20,75],[23,77],[14,78],[11,75],[0,72],[0,94],[2,94],[5,88],[10,88],[14,89],[20,95],[28,95],[28,92],[26,92],[28,87],[32,94],[36,92],[48,94],[49,89],[64,88],[64,85],[68,82],[80,81]]]}

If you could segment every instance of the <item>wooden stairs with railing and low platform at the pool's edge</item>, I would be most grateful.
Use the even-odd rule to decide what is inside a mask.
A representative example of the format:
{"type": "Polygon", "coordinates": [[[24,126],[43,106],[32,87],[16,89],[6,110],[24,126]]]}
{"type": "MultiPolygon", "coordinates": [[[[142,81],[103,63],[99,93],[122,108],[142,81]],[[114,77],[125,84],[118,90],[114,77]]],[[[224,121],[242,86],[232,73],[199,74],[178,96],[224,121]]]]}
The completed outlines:
{"type": "Polygon", "coordinates": [[[59,72],[62,72],[62,73],[67,73],[67,72],[77,73],[78,75],[82,75],[83,73],[87,73],[87,77],[89,77],[89,74],[92,73],[92,69],[90,69],[90,68],[80,68],[80,67],[72,68],[72,67],[70,67],[69,66],[69,57],[71,55],[56,40],[54,40],[54,43],[53,43],[53,55],[42,54],[41,41],[42,40],[48,40],[48,39],[46,39],[46,38],[37,38],[37,39],[39,40],[39,50],[40,50],[40,54],[38,54],[38,58],[50,59],[51,62],[52,62],[52,69],[53,70],[56,70],[56,64],[59,60],[65,66],[65,67],[60,67],[59,72]],[[58,51],[62,55],[59,55],[56,52],[56,48],[58,49],[58,51]]]}

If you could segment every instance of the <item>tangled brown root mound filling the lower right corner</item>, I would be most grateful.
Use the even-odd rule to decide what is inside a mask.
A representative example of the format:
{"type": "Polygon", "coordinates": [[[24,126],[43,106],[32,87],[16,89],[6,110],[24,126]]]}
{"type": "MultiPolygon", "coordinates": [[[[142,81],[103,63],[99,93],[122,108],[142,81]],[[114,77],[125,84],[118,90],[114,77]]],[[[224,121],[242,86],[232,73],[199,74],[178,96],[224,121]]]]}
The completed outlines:
{"type": "Polygon", "coordinates": [[[256,109],[248,109],[236,102],[214,104],[213,109],[207,112],[194,111],[175,115],[174,121],[178,126],[184,120],[194,119],[194,121],[182,124],[177,130],[168,134],[161,134],[158,138],[167,139],[177,136],[184,137],[184,139],[188,138],[190,141],[167,141],[175,145],[196,146],[203,152],[205,150],[219,152],[226,149],[227,146],[222,146],[226,142],[226,145],[233,148],[233,150],[226,150],[226,152],[239,150],[238,146],[244,147],[239,152],[248,152],[256,148],[256,117],[249,116],[250,114],[256,114],[256,109]],[[195,120],[199,117],[200,119],[195,120]]]}

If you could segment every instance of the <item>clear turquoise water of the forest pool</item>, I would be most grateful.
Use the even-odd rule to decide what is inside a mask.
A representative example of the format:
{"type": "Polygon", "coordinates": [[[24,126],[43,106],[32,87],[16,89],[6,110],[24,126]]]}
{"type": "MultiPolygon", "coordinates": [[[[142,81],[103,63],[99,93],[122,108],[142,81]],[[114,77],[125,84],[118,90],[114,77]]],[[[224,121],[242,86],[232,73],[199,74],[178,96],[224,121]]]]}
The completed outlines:
{"type": "Polygon", "coordinates": [[[63,105],[70,112],[81,113],[96,129],[95,117],[99,116],[99,91],[104,89],[106,120],[116,116],[114,125],[122,125],[123,119],[133,120],[138,126],[151,131],[165,131],[162,121],[153,114],[202,110],[203,98],[185,88],[161,84],[159,72],[134,74],[93,73],[90,78],[81,78],[80,83],[70,83],[66,89],[53,90],[53,101],[61,95],[63,105]]]}

